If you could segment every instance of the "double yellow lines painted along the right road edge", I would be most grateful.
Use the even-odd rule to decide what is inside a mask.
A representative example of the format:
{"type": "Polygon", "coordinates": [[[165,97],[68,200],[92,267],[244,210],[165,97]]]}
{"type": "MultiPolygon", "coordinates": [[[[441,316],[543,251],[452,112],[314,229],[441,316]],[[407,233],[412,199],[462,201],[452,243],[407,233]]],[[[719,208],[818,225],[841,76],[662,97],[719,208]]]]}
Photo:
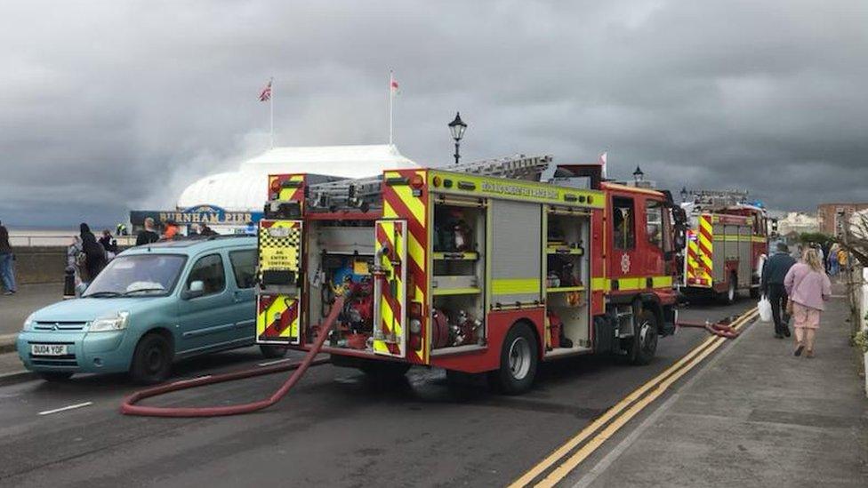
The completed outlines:
{"type": "MultiPolygon", "coordinates": [[[[735,319],[731,325],[736,330],[741,329],[757,315],[757,308],[752,308],[735,319]]],[[[697,364],[702,363],[703,359],[711,355],[712,352],[717,350],[726,341],[726,338],[718,336],[711,336],[703,340],[702,344],[693,348],[686,356],[679,359],[677,363],[672,364],[666,371],[658,374],[653,380],[636,388],[630,395],[625,396],[623,400],[608,409],[597,420],[591,422],[591,425],[583,428],[581,432],[569,439],[554,452],[551,452],[548,457],[540,461],[534,468],[530,468],[524,475],[512,482],[510,488],[528,486],[546,472],[548,474],[535,486],[547,487],[557,484],[575,469],[579,463],[590,456],[592,452],[596,451],[600,445],[605,443],[609,437],[622,428],[624,424],[635,417],[637,413],[663,395],[666,389],[671,387],[672,383],[687,374],[697,364]],[[600,430],[601,428],[602,430],[600,430]],[[593,436],[591,440],[583,444],[578,450],[575,449],[591,436],[593,436]],[[551,469],[555,465],[558,465],[557,468],[551,469]]]]}

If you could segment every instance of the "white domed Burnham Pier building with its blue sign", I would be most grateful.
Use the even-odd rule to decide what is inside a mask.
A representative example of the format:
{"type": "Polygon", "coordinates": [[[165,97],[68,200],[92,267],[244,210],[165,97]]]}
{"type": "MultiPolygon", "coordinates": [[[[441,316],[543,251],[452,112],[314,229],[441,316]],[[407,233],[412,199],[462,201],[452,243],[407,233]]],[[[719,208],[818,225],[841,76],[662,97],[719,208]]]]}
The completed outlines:
{"type": "Polygon", "coordinates": [[[379,176],[385,170],[419,167],[391,144],[272,148],[234,172],[205,176],[185,188],[173,209],[130,212],[133,235],[146,217],[158,224],[205,224],[221,234],[250,231],[268,200],[268,175],[314,173],[333,178],[379,176]]]}

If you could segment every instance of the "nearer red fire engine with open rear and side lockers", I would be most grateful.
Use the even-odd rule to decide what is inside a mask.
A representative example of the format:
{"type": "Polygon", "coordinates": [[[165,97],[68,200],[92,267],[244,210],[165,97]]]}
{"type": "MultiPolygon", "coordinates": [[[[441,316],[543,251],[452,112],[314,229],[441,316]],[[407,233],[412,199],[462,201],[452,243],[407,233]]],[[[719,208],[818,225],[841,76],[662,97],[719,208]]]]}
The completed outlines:
{"type": "Polygon", "coordinates": [[[334,364],[487,372],[507,393],[539,361],[605,353],[644,364],[674,331],[668,192],[604,182],[596,164],[516,156],[366,180],[269,176],[256,340],[334,364]],[[542,179],[542,181],[541,181],[542,179]],[[320,331],[338,296],[336,324],[320,331]]]}

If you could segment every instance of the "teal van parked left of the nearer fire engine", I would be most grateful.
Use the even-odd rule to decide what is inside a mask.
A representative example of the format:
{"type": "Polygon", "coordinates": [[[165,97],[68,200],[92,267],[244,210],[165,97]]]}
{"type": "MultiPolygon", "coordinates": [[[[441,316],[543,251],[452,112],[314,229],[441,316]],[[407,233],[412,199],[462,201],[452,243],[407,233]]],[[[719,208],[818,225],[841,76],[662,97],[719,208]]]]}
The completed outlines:
{"type": "MultiPolygon", "coordinates": [[[[36,310],[17,340],[45,380],[129,372],[165,380],[174,361],[253,345],[256,237],[214,236],[121,252],[82,293],[36,310]]],[[[267,357],[285,348],[262,347],[267,357]]]]}

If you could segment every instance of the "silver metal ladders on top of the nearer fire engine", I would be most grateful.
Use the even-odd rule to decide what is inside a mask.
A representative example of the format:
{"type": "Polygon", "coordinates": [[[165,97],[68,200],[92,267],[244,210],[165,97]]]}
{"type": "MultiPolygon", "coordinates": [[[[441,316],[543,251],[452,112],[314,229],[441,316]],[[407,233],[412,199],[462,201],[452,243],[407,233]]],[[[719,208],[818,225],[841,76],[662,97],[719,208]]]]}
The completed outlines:
{"type": "MultiPolygon", "coordinates": [[[[525,156],[519,154],[438,169],[516,180],[539,180],[540,174],[551,165],[551,161],[551,155],[525,156]]],[[[308,204],[311,208],[320,209],[379,206],[382,198],[381,186],[382,175],[317,183],[308,187],[308,204]]]]}

